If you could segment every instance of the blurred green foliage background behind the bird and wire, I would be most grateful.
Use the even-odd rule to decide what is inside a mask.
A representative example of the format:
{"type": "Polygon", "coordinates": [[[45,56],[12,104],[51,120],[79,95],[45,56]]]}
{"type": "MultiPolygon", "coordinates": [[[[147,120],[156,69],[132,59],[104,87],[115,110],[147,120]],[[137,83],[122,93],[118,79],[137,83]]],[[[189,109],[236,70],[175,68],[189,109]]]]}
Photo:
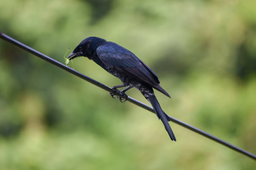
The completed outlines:
{"type": "MultiPolygon", "coordinates": [[[[1,0],[0,30],[64,63],[89,36],[131,50],[163,110],[256,154],[255,0],[1,0]]],[[[83,57],[75,70],[120,80],[83,57]]],[[[138,90],[128,95],[148,104],[138,90]]],[[[256,162],[0,40],[1,170],[252,170],[256,162]]]]}

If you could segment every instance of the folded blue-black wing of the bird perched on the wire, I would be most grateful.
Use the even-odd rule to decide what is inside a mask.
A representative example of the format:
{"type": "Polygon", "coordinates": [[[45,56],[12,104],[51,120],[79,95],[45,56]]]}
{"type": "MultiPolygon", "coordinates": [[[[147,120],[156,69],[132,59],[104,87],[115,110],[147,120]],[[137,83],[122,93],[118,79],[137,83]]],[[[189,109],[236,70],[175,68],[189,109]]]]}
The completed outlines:
{"type": "Polygon", "coordinates": [[[148,85],[159,86],[156,73],[124,47],[114,42],[104,42],[97,47],[97,55],[106,66],[115,68],[119,72],[148,85]]]}

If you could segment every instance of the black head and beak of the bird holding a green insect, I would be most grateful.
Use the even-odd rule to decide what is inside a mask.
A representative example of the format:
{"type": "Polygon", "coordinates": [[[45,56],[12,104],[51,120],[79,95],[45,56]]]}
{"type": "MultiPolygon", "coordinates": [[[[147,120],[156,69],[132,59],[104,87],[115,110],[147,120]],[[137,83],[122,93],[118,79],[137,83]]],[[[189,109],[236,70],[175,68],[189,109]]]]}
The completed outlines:
{"type": "Polygon", "coordinates": [[[68,59],[72,60],[75,57],[80,56],[88,57],[89,59],[91,59],[91,56],[96,51],[97,47],[105,41],[106,40],[99,37],[88,37],[82,40],[82,42],[80,42],[79,45],[75,47],[73,52],[68,56],[68,59]]]}

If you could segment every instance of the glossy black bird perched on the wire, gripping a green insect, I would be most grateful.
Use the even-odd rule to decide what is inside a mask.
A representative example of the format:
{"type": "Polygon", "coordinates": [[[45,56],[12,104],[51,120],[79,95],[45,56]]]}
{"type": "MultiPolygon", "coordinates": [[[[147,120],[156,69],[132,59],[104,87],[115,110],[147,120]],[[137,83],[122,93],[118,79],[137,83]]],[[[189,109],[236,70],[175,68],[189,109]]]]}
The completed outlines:
{"type": "MultiPolygon", "coordinates": [[[[72,60],[79,56],[88,57],[123,82],[122,85],[113,87],[115,94],[110,93],[112,97],[120,93],[120,91],[117,90],[119,87],[126,87],[121,91],[121,93],[126,96],[126,100],[127,95],[125,91],[132,87],[140,90],[143,96],[146,97],[153,106],[157,117],[163,122],[171,140],[176,141],[174,133],[168,123],[169,117],[164,113],[159,102],[156,100],[153,88],[168,97],[170,97],[170,95],[159,85],[158,77],[151,68],[131,51],[114,42],[106,41],[99,37],[88,37],[84,39],[75,47],[68,58],[72,60]]],[[[121,98],[119,99],[122,102],[121,98]]]]}

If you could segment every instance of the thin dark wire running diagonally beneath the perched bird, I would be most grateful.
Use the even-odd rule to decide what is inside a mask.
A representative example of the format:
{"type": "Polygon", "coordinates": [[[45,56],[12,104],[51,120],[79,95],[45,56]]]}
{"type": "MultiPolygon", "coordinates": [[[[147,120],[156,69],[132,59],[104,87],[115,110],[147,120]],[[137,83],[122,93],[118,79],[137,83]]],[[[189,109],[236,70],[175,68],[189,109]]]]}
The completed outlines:
{"type": "MultiPolygon", "coordinates": [[[[57,67],[60,67],[61,69],[66,70],[67,72],[70,72],[70,73],[72,73],[73,75],[76,75],[77,77],[80,77],[80,78],[82,78],[82,79],[84,79],[84,80],[86,80],[86,81],[88,81],[88,82],[90,82],[90,83],[92,83],[92,84],[94,84],[94,85],[96,85],[96,86],[98,86],[98,87],[100,87],[100,88],[102,88],[102,89],[108,91],[108,92],[113,92],[113,93],[115,92],[115,91],[112,90],[110,87],[108,87],[108,86],[106,86],[106,85],[104,85],[104,84],[102,84],[102,83],[100,83],[100,82],[97,82],[96,80],[93,80],[92,78],[87,77],[86,75],[83,75],[82,73],[80,73],[80,72],[78,72],[78,71],[76,71],[76,70],[74,70],[74,69],[72,69],[72,68],[67,67],[66,65],[62,64],[61,62],[58,62],[58,61],[52,59],[51,57],[48,57],[47,55],[44,55],[43,53],[34,50],[34,49],[31,48],[31,47],[28,47],[27,45],[25,45],[25,44],[23,44],[23,43],[21,43],[21,42],[15,40],[15,39],[13,39],[12,37],[9,37],[8,35],[5,35],[5,34],[4,34],[3,32],[1,32],[1,31],[0,31],[0,37],[1,37],[3,40],[6,40],[6,41],[12,43],[13,45],[16,45],[16,46],[20,47],[21,49],[26,50],[26,51],[30,52],[31,54],[36,55],[37,57],[39,57],[39,58],[41,58],[41,59],[43,59],[43,60],[46,60],[47,62],[50,62],[51,64],[56,65],[57,67]]],[[[123,97],[123,98],[125,98],[125,96],[123,96],[123,95],[121,95],[121,94],[118,94],[118,97],[123,97]]],[[[131,102],[131,103],[133,103],[133,104],[135,104],[135,105],[138,105],[138,106],[140,106],[140,107],[142,107],[142,108],[144,108],[144,109],[146,109],[146,110],[148,110],[148,111],[150,111],[150,112],[155,113],[155,112],[154,112],[154,109],[153,109],[152,107],[150,107],[150,106],[148,106],[148,105],[146,105],[146,104],[144,104],[144,103],[142,103],[142,102],[140,102],[140,101],[138,101],[138,100],[136,100],[136,99],[133,99],[132,97],[129,97],[129,96],[128,96],[127,101],[129,101],[129,102],[131,102]]],[[[169,115],[168,115],[168,116],[169,116],[169,115]]],[[[241,148],[238,148],[238,147],[235,146],[235,145],[232,145],[232,144],[230,144],[230,143],[228,143],[228,142],[226,142],[226,141],[224,141],[224,140],[221,140],[220,138],[217,138],[217,137],[215,137],[215,136],[213,136],[213,135],[211,135],[211,134],[209,134],[209,133],[206,133],[206,132],[203,131],[203,130],[200,130],[200,129],[198,129],[198,128],[195,128],[194,126],[189,125],[189,124],[187,124],[187,123],[185,123],[185,122],[182,122],[182,121],[180,121],[180,120],[178,120],[178,119],[176,119],[176,118],[174,118],[174,117],[172,117],[172,116],[169,116],[169,118],[170,118],[170,120],[171,120],[172,122],[177,123],[178,125],[181,125],[181,126],[183,126],[184,128],[187,128],[187,129],[189,129],[189,130],[192,130],[192,131],[195,132],[195,133],[198,133],[198,134],[200,134],[200,135],[203,135],[203,136],[205,136],[206,138],[209,138],[209,139],[211,139],[211,140],[214,140],[214,141],[217,142],[217,143],[220,143],[220,144],[222,144],[222,145],[224,145],[224,146],[226,146],[226,147],[228,147],[228,148],[230,148],[230,149],[232,149],[232,150],[235,150],[235,151],[237,151],[237,152],[239,152],[239,153],[242,153],[243,155],[246,155],[246,156],[248,156],[248,157],[253,158],[254,160],[256,160],[256,155],[253,155],[252,153],[249,153],[249,152],[246,151],[246,150],[243,150],[243,149],[241,149],[241,148]]]]}

